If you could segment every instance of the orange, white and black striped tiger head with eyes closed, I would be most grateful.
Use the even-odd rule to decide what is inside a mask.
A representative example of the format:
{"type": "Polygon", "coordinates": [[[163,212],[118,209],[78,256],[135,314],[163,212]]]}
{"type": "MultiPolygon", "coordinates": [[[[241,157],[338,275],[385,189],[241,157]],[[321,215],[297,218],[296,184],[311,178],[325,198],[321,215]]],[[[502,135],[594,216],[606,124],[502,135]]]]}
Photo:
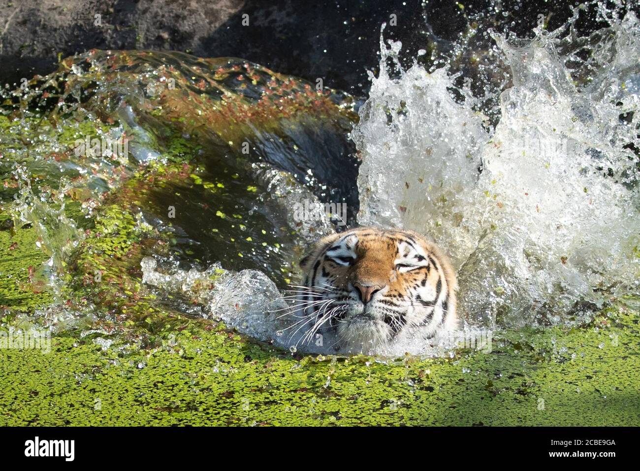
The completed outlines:
{"type": "Polygon", "coordinates": [[[300,265],[308,338],[330,329],[341,347],[367,352],[456,323],[451,265],[417,233],[360,227],[323,238],[300,265]]]}

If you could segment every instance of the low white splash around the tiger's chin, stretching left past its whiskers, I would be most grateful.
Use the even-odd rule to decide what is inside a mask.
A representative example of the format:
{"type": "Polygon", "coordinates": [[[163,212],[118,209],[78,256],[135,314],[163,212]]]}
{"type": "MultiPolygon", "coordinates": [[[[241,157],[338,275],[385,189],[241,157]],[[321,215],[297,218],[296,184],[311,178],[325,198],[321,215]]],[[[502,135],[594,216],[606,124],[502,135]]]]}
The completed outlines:
{"type": "Polygon", "coordinates": [[[273,281],[258,270],[234,272],[223,269],[219,263],[202,272],[182,270],[172,261],[159,265],[152,257],[145,257],[140,265],[143,283],[167,292],[179,292],[206,306],[207,317],[223,320],[228,327],[234,327],[244,335],[273,343],[292,353],[365,352],[390,357],[408,352],[442,356],[461,343],[465,346],[469,340],[473,342],[472,348],[479,349],[490,346],[491,342],[491,333],[467,329],[463,333],[448,332],[435,341],[422,338],[418,331],[405,331],[390,345],[371,348],[341,345],[331,329],[312,329],[316,317],[305,317],[296,310],[296,303],[292,301],[298,292],[296,288],[280,293],[273,281]]]}

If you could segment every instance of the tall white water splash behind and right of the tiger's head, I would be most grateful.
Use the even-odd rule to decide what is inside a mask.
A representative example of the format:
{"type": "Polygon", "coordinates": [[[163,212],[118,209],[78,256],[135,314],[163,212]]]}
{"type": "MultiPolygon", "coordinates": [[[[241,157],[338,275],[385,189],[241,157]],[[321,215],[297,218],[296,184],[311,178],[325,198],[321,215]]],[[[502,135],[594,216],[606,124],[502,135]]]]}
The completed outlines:
{"type": "Polygon", "coordinates": [[[494,39],[511,68],[500,121],[484,126],[445,69],[381,72],[353,133],[362,155],[360,224],[423,233],[458,269],[461,311],[486,326],[569,320],[638,290],[640,26],[612,19],[591,75],[575,83],[560,31],[494,39]],[[599,67],[598,67],[599,66],[599,67]],[[632,120],[621,119],[636,113],[632,120]],[[481,172],[479,171],[481,169],[481,172]],[[551,314],[552,313],[552,314],[551,314]]]}

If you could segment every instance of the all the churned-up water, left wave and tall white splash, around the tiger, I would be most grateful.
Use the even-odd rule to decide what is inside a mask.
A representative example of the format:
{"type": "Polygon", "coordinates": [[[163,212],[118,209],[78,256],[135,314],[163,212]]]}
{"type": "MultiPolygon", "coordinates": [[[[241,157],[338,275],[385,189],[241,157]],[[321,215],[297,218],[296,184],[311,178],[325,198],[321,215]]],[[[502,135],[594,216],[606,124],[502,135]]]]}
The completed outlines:
{"type": "MultiPolygon", "coordinates": [[[[590,37],[574,28],[584,10],[530,39],[480,21],[483,56],[462,39],[432,67],[420,54],[403,68],[383,31],[359,110],[241,60],[145,51],[92,51],[3,92],[2,204],[36,231],[49,260],[34,279],[56,295],[20,322],[109,348],[187,315],[292,353],[335,352],[275,301],[333,230],[296,220],[304,201],[435,240],[458,270],[470,335],[588,320],[637,293],[640,274],[640,26],[598,11],[605,26],[590,37]],[[87,137],[99,152],[77,154],[87,137]],[[103,140],[127,152],[102,152],[103,140]],[[149,320],[157,310],[169,315],[149,320]]],[[[372,353],[440,355],[451,341],[372,353]]]]}

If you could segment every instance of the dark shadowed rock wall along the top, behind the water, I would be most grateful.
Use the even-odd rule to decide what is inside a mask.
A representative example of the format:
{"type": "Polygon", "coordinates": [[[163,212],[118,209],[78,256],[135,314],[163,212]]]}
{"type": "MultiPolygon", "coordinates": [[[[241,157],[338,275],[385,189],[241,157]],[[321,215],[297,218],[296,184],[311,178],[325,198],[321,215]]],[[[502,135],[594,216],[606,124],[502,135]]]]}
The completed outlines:
{"type": "Polygon", "coordinates": [[[554,29],[578,3],[504,0],[496,13],[486,1],[6,1],[0,4],[0,83],[52,72],[59,54],[156,49],[241,57],[360,95],[369,88],[366,70],[378,67],[380,25],[392,14],[397,24],[387,27],[385,39],[401,40],[406,62],[412,62],[420,48],[446,51],[476,13],[483,13],[487,28],[526,36],[538,15],[554,29]]]}

